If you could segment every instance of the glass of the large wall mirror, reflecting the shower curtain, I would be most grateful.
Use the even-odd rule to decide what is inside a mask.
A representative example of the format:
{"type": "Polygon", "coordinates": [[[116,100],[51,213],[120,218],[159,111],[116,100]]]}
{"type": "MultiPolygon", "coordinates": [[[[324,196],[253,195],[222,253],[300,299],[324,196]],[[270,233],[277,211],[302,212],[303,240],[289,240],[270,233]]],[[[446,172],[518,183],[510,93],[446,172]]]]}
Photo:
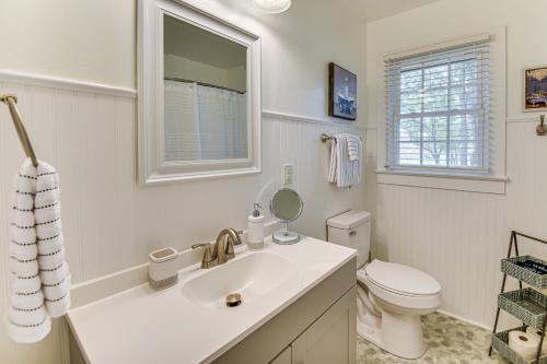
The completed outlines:
{"type": "Polygon", "coordinates": [[[163,16],[164,161],[248,158],[247,48],[163,16]]]}

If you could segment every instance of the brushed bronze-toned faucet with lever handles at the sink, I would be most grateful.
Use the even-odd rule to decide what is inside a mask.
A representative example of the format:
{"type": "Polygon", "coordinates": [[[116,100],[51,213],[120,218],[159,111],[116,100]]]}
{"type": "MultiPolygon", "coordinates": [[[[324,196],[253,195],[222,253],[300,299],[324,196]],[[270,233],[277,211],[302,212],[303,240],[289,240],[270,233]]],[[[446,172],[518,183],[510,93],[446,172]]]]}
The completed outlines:
{"type": "Polygon", "coordinates": [[[235,258],[234,245],[240,244],[242,244],[240,233],[232,227],[226,227],[220,232],[214,245],[209,243],[196,244],[191,248],[205,247],[201,268],[209,269],[235,258]]]}

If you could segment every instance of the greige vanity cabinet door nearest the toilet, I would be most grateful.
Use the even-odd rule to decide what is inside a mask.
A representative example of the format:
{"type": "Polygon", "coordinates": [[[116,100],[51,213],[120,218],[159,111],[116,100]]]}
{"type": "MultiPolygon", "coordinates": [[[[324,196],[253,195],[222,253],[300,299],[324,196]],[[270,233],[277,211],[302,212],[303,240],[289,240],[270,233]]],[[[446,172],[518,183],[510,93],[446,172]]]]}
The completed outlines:
{"type": "Polygon", "coordinates": [[[291,344],[292,364],[354,364],[356,330],[353,286],[291,344]]]}

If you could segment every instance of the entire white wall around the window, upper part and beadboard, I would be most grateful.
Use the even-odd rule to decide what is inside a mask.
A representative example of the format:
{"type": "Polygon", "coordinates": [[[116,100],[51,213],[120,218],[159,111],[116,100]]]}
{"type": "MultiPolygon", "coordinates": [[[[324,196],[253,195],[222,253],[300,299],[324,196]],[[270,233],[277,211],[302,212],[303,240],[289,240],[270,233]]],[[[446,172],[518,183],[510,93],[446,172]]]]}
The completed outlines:
{"type": "MultiPolygon", "coordinates": [[[[368,122],[377,130],[384,122],[384,55],[507,26],[507,193],[366,186],[366,206],[375,212],[374,255],[432,274],[443,286],[442,309],[488,327],[510,231],[547,238],[547,138],[535,136],[538,115],[521,111],[523,69],[547,63],[544,7],[542,0],[442,0],[368,25],[368,122]]],[[[381,138],[368,132],[369,181],[375,180],[381,138]]],[[[531,251],[529,243],[522,245],[531,251]]],[[[534,253],[546,258],[546,248],[534,253]]]]}

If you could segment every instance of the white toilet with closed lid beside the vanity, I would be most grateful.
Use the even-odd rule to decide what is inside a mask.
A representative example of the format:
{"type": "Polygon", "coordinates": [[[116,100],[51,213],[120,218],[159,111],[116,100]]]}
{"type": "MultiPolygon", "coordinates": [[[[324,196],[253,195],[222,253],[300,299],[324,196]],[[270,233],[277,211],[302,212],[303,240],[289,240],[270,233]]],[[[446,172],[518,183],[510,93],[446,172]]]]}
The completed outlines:
{"type": "Polygon", "coordinates": [[[371,214],[350,211],[327,220],[328,240],[357,254],[357,331],[365,340],[404,359],[426,351],[420,316],[441,305],[441,285],[418,269],[374,260],[370,253],[371,214]]]}

